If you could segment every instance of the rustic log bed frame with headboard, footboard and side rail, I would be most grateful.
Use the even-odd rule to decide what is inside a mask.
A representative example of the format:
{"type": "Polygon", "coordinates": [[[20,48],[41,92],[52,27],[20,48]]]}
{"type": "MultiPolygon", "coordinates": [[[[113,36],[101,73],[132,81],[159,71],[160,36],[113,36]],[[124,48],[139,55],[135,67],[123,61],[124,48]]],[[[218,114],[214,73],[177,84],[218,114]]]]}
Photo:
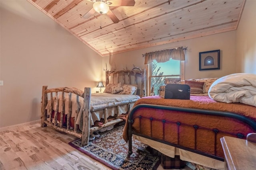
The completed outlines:
{"type": "MultiPolygon", "coordinates": [[[[141,70],[138,68],[138,70],[132,69],[132,70],[120,70],[116,72],[109,72],[106,70],[106,85],[109,84],[109,79],[112,78],[112,82],[114,83],[114,79],[116,79],[117,82],[119,82],[119,74],[122,74],[122,83],[123,84],[138,84],[138,77],[141,77],[142,82],[141,82],[141,88],[138,87],[138,90],[140,90],[140,97],[146,96],[146,86],[145,86],[145,69],[141,70]],[[131,77],[134,77],[134,82],[131,81],[131,77]],[[126,80],[128,79],[128,82],[126,80]]],[[[84,88],[84,92],[82,90],[78,90],[76,88],[51,88],[48,89],[48,86],[43,86],[42,88],[42,117],[41,117],[41,127],[46,127],[47,125],[50,127],[53,127],[54,129],[58,131],[62,131],[71,135],[74,135],[80,139],[82,139],[82,145],[88,145],[89,143],[89,136],[90,133],[97,131],[99,129],[102,129],[104,127],[108,127],[110,125],[114,125],[116,123],[119,123],[123,121],[123,119],[119,118],[119,113],[116,114],[116,119],[108,121],[106,117],[106,112],[107,109],[110,107],[117,107],[119,111],[119,106],[121,105],[128,105],[128,111],[131,109],[130,104],[136,102],[136,100],[132,101],[126,101],[126,102],[116,102],[114,104],[106,104],[104,107],[93,107],[90,106],[90,98],[91,98],[91,89],[86,87],[84,88]],[[62,102],[59,104],[56,102],[56,110],[55,113],[60,112],[60,122],[58,123],[57,121],[57,114],[54,114],[54,117],[52,117],[52,114],[49,114],[49,117],[47,115],[47,109],[46,106],[48,102],[50,102],[50,111],[53,111],[53,100],[54,97],[58,101],[59,97],[58,94],[61,93],[62,95],[62,102]],[[68,114],[67,114],[67,120],[66,120],[66,127],[63,126],[63,113],[64,113],[64,96],[65,93],[68,93],[68,114]],[[50,99],[48,99],[48,96],[50,96],[50,99]],[[80,110],[80,105],[79,105],[79,98],[82,97],[84,98],[84,106],[83,106],[83,128],[82,131],[78,128],[78,125],[74,125],[74,128],[70,127],[70,119],[71,119],[71,111],[72,111],[72,102],[71,98],[72,96],[76,96],[76,116],[74,117],[74,122],[76,122],[76,119],[78,117],[78,113],[80,110]],[[59,105],[62,106],[62,110],[58,111],[59,105]],[[90,113],[92,111],[98,111],[98,110],[104,110],[104,124],[101,127],[91,127],[90,126],[90,113]],[[48,118],[48,120],[47,120],[48,118]],[[50,120],[49,120],[50,119],[50,120]]],[[[50,112],[51,113],[51,112],[50,112]]]]}

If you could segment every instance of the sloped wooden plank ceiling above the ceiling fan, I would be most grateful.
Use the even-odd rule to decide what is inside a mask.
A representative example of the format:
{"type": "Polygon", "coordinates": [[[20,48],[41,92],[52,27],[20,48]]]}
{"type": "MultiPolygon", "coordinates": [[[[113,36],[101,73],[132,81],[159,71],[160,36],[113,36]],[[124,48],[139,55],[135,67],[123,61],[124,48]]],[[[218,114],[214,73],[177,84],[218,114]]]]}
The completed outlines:
{"type": "MultiPolygon", "coordinates": [[[[135,0],[106,14],[82,16],[88,0],[28,0],[101,56],[237,29],[245,0],[135,0]],[[100,29],[100,26],[102,29],[100,29]]],[[[116,0],[118,1],[118,0],[116,0]]]]}

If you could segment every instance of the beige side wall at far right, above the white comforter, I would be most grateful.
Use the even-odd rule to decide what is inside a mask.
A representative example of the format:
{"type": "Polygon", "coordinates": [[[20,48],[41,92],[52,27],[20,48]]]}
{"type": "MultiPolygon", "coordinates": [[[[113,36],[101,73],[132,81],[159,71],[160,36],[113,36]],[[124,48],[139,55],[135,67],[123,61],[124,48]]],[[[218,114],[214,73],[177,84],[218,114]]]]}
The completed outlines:
{"type": "Polygon", "coordinates": [[[236,33],[236,72],[256,74],[256,0],[246,1],[236,33]]]}

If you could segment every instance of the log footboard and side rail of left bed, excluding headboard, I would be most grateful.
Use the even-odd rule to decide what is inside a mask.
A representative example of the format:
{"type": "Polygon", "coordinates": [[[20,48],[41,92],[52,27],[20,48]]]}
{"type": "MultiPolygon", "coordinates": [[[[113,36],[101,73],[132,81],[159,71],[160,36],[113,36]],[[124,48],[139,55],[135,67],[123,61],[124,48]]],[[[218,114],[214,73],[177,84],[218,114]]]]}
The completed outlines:
{"type": "MultiPolygon", "coordinates": [[[[47,125],[65,133],[68,133],[70,135],[74,135],[80,139],[82,139],[82,145],[88,145],[89,143],[89,137],[90,133],[93,133],[94,131],[97,131],[99,129],[102,129],[104,127],[108,127],[111,125],[115,125],[116,123],[119,123],[121,121],[124,121],[124,119],[119,118],[119,107],[122,105],[127,105],[128,111],[130,111],[130,104],[135,103],[136,100],[130,100],[130,101],[124,101],[124,102],[116,102],[115,104],[106,104],[101,107],[99,106],[90,106],[90,98],[91,98],[91,89],[90,88],[84,88],[84,92],[82,90],[78,90],[76,88],[51,88],[48,89],[48,86],[43,86],[42,88],[42,117],[41,117],[41,127],[46,127],[47,125]],[[58,101],[59,99],[59,93],[61,93],[60,97],[62,100],[60,102],[54,102],[54,100],[58,101]],[[68,114],[66,114],[66,117],[64,118],[64,112],[65,112],[65,93],[68,93],[68,114]],[[50,97],[48,99],[48,96],[50,97]],[[75,109],[75,116],[74,121],[71,123],[71,112],[72,112],[72,96],[76,98],[76,109],[75,109]],[[76,119],[78,118],[78,113],[81,109],[80,101],[83,98],[83,108],[82,108],[82,129],[79,129],[79,125],[76,123],[76,119]],[[49,110],[46,109],[46,106],[49,102],[49,110]],[[54,106],[55,104],[55,111],[54,106]],[[61,105],[61,110],[58,110],[59,105],[61,105]],[[116,118],[114,120],[108,120],[107,119],[107,110],[108,108],[117,107],[117,113],[116,118]],[[90,126],[90,113],[92,111],[98,111],[98,110],[104,110],[104,124],[102,126],[90,126]],[[52,114],[53,112],[53,114],[52,114]],[[57,114],[55,114],[57,113],[57,114]],[[60,114],[58,114],[60,113],[60,114]],[[59,116],[59,117],[58,117],[59,116]],[[66,123],[64,124],[64,119],[66,119],[66,123]],[[58,122],[59,121],[59,122],[58,122]],[[71,125],[72,124],[72,125],[71,125]]],[[[73,106],[74,107],[74,106],[73,106]]]]}

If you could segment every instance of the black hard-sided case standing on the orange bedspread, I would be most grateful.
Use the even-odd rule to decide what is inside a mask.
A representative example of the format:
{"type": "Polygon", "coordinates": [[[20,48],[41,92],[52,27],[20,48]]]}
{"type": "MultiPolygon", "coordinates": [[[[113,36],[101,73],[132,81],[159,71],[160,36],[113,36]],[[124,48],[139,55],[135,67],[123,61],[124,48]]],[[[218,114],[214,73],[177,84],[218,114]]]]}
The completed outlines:
{"type": "Polygon", "coordinates": [[[159,87],[158,95],[165,99],[190,99],[190,86],[187,84],[165,84],[159,87]]]}

